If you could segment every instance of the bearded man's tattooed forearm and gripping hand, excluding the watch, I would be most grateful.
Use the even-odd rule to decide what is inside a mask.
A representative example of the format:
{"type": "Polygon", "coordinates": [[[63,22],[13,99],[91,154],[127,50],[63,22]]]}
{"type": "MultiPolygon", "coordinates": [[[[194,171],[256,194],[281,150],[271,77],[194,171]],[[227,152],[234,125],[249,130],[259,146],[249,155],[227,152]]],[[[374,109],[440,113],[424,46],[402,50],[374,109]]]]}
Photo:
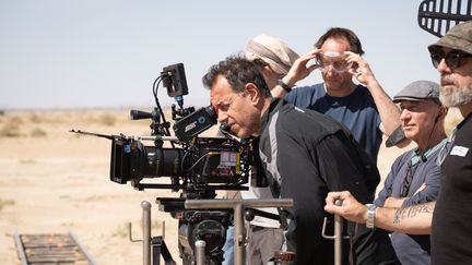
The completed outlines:
{"type": "MultiPolygon", "coordinates": [[[[367,207],[355,200],[350,192],[330,192],[326,198],[324,210],[338,214],[347,220],[365,224],[367,220],[367,207]],[[341,200],[341,206],[334,202],[341,200]]],[[[389,231],[398,231],[410,234],[430,233],[435,202],[417,204],[402,208],[378,207],[376,210],[375,226],[389,231]]]]}

